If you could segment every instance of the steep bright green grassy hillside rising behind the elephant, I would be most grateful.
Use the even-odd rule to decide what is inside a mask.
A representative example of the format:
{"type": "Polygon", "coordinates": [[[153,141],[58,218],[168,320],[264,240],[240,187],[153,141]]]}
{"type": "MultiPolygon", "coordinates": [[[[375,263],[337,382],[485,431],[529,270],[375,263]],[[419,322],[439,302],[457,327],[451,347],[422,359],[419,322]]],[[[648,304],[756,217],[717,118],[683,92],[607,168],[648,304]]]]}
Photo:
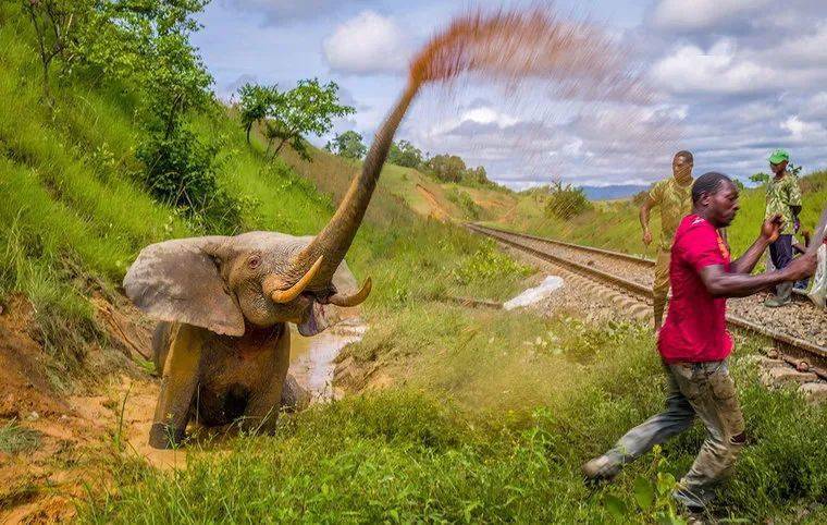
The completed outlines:
{"type": "MultiPolygon", "coordinates": [[[[37,329],[46,346],[61,358],[79,356],[85,344],[100,338],[87,301],[92,289],[114,293],[129,262],[147,244],[226,232],[187,219],[141,188],[135,149],[143,132],[135,124],[131,100],[116,88],[65,78],[53,89],[54,108],[44,103],[39,65],[26,38],[28,23],[8,8],[2,16],[0,301],[24,293],[38,313],[37,329]]],[[[248,147],[240,124],[232,118],[217,112],[196,117],[193,124],[221,145],[219,182],[244,203],[240,230],[318,232],[334,210],[335,196],[344,193],[355,172],[340,159],[316,152],[316,162],[305,168],[314,173],[319,192],[285,160],[264,160],[258,147],[248,147]]],[[[435,233],[441,225],[416,220],[380,187],[349,257],[357,271],[374,267],[373,257],[391,264],[381,254],[407,237],[403,232],[408,229],[433,239],[442,236],[435,233]]],[[[455,249],[469,258],[480,249],[492,249],[476,239],[444,248],[450,252],[449,258],[455,249]]],[[[455,264],[461,266],[462,258],[455,264]]],[[[382,271],[383,266],[377,269],[382,271]]],[[[375,278],[374,282],[381,294],[385,283],[375,278]]],[[[417,283],[400,284],[396,279],[394,285],[417,283]]]]}

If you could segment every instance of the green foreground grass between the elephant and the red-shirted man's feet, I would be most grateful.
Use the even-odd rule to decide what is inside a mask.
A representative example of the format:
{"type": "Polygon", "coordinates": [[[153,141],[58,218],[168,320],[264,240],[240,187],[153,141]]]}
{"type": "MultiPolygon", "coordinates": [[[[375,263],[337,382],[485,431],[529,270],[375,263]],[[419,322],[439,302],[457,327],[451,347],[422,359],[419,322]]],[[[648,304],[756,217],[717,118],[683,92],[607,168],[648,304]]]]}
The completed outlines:
{"type": "MultiPolygon", "coordinates": [[[[183,471],[123,460],[114,466],[116,491],[90,499],[82,518],[605,523],[616,521],[605,504],[613,497],[629,508],[619,523],[650,522],[664,510],[638,509],[635,486],[654,485],[658,473],[679,478],[703,439],[700,425],[628,466],[613,485],[592,489],[579,474],[582,462],[662,407],[664,380],[649,331],[631,325],[570,330],[565,318],[531,318],[527,328],[517,314],[458,308],[444,322],[448,314],[433,314],[447,326],[421,340],[420,350],[402,349],[442,364],[414,366],[407,387],[316,406],[284,418],[274,438],[240,438],[226,453],[190,451],[183,471]],[[504,325],[491,329],[492,322],[504,325]],[[476,332],[465,337],[462,328],[476,332]],[[465,344],[456,344],[457,331],[465,344]],[[554,346],[514,344],[550,332],[554,346]],[[442,345],[449,346],[441,352],[442,345]],[[469,374],[457,375],[459,365],[469,374]],[[497,391],[501,375],[524,371],[523,381],[511,376],[509,391],[497,391]]],[[[757,522],[823,501],[827,412],[791,392],[766,391],[740,357],[732,369],[750,445],[715,514],[757,522]]],[[[668,505],[668,498],[659,500],[668,505]]]]}

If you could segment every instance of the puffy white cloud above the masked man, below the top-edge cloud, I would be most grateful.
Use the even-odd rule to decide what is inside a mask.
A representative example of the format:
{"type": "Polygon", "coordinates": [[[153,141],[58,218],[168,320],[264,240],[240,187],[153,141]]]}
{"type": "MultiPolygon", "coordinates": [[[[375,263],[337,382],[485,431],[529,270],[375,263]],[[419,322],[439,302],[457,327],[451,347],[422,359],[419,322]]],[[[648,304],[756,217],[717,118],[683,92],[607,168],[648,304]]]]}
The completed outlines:
{"type": "Polygon", "coordinates": [[[739,57],[729,39],[718,40],[706,52],[698,46],[681,46],[654,64],[652,76],[672,93],[755,93],[780,81],[777,71],[739,57]]]}

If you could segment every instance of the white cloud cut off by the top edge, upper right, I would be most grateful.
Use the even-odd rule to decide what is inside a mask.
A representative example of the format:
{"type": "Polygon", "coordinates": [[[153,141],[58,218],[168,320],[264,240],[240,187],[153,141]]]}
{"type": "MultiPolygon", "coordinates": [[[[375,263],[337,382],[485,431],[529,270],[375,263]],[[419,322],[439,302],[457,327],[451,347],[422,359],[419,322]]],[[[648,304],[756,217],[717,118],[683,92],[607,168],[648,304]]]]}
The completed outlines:
{"type": "Polygon", "coordinates": [[[657,27],[678,32],[712,29],[770,3],[770,0],[663,0],[652,20],[657,27]]]}

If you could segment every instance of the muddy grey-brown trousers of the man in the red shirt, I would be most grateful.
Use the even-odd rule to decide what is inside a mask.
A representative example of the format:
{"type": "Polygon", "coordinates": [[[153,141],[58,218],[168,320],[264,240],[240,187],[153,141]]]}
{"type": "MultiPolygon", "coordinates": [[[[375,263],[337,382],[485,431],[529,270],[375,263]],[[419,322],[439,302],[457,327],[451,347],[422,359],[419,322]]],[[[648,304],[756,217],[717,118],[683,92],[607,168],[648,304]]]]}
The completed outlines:
{"type": "Polygon", "coordinates": [[[706,439],[675,497],[687,506],[703,508],[743,447],[743,415],[726,361],[667,365],[666,373],[666,411],[629,430],[606,455],[629,463],[689,428],[698,416],[706,439]]]}

